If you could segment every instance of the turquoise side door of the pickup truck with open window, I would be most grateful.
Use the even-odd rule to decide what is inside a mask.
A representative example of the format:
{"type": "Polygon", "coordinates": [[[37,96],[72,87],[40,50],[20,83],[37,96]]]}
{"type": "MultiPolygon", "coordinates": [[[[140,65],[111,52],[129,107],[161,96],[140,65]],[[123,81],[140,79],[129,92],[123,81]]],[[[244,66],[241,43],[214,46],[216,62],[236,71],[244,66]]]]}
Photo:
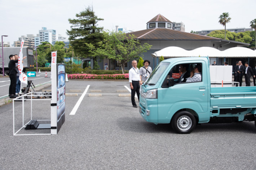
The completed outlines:
{"type": "Polygon", "coordinates": [[[186,67],[188,67],[186,71],[189,72],[189,74],[195,65],[199,64],[202,66],[202,79],[197,80],[196,82],[179,81],[181,76],[181,64],[182,63],[178,63],[177,65],[173,66],[169,71],[166,79],[163,81],[163,84],[165,84],[165,81],[167,81],[169,77],[173,77],[175,84],[171,87],[162,86],[158,89],[159,122],[164,122],[164,120],[170,121],[173,114],[175,114],[180,109],[192,109],[197,114],[200,114],[199,119],[201,120],[199,120],[199,122],[203,120],[205,121],[205,119],[209,119],[209,89],[206,63],[203,63],[202,61],[183,63],[183,66],[186,65],[186,67]]]}

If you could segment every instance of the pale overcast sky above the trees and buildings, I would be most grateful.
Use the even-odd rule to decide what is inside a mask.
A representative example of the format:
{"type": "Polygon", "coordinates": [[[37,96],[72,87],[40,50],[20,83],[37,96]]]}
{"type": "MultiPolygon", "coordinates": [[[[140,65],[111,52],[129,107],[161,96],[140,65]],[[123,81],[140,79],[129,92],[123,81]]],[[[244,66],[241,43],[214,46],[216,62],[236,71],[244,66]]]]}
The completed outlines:
{"type": "Polygon", "coordinates": [[[104,29],[127,27],[146,29],[146,23],[158,14],[171,22],[183,22],[185,32],[191,30],[224,29],[219,16],[228,12],[231,17],[226,28],[250,28],[256,18],[256,0],[0,0],[0,35],[3,41],[13,44],[18,37],[39,33],[42,27],[55,29],[67,37],[69,18],[83,11],[88,5],[104,29]]]}

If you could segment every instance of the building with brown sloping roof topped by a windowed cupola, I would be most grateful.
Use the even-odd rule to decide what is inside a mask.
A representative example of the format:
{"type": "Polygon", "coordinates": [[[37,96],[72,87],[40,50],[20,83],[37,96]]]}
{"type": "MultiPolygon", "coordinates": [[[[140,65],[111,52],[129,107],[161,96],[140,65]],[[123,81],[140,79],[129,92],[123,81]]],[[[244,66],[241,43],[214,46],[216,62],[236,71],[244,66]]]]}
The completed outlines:
{"type": "MultiPolygon", "coordinates": [[[[129,34],[134,34],[137,37],[136,39],[140,40],[141,44],[148,43],[152,45],[149,51],[143,53],[143,59],[149,60],[152,68],[154,68],[159,62],[159,58],[153,58],[151,54],[165,47],[175,46],[184,48],[186,50],[193,50],[199,47],[213,47],[223,51],[231,47],[250,45],[248,43],[229,41],[221,38],[202,36],[199,34],[174,30],[172,29],[174,27],[173,22],[161,14],[156,15],[146,24],[147,29],[126,33],[126,35],[129,37],[129,34]]],[[[235,65],[235,60],[231,60],[231,58],[211,58],[211,60],[216,60],[218,65],[222,65],[224,60],[228,61],[229,65],[235,65]]],[[[107,60],[103,62],[106,65],[107,60]]],[[[119,68],[119,63],[116,61],[110,60],[108,65],[110,70],[119,68]]],[[[125,70],[129,70],[131,67],[131,61],[129,61],[125,67],[125,70]]],[[[104,66],[101,69],[104,69],[104,66]]]]}

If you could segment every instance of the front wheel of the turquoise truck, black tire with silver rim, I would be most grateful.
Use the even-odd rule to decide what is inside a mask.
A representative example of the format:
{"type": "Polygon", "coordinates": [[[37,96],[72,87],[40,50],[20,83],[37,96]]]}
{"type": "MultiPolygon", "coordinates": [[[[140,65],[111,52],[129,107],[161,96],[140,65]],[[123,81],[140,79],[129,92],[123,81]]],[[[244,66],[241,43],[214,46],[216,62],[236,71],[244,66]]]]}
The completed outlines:
{"type": "Polygon", "coordinates": [[[196,120],[193,114],[186,111],[176,113],[172,117],[171,125],[177,133],[190,133],[196,126],[196,120]]]}

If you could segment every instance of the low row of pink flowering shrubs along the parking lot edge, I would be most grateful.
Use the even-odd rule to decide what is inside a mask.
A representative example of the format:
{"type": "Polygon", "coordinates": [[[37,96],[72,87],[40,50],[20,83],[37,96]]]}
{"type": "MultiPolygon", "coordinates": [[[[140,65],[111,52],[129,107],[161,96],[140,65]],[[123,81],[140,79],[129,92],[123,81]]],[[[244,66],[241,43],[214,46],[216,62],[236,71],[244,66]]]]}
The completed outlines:
{"type": "Polygon", "coordinates": [[[129,79],[129,74],[69,74],[68,79],[129,79]]]}

